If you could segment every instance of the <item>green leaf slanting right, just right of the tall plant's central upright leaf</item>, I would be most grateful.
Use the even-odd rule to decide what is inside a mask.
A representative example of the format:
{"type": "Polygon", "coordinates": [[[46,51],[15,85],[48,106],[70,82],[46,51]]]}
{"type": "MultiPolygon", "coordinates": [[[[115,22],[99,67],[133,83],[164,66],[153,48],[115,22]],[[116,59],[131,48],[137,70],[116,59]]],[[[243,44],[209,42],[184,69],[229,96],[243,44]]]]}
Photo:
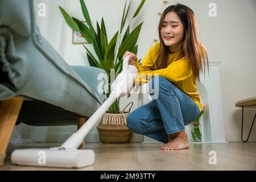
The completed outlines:
{"type": "Polygon", "coordinates": [[[114,59],[115,59],[115,45],[117,44],[118,31],[115,33],[113,38],[110,40],[108,47],[106,48],[106,53],[104,56],[104,65],[105,68],[109,71],[111,68],[114,68],[114,59]]]}

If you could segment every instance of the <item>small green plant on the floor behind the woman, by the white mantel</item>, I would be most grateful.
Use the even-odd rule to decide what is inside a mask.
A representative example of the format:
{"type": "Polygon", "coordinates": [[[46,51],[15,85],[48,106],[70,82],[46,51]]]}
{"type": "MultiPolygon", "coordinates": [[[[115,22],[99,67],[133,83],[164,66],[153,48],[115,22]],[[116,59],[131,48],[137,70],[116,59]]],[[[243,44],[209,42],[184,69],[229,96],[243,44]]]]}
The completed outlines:
{"type": "Polygon", "coordinates": [[[193,138],[193,142],[202,142],[203,138],[202,138],[201,125],[200,125],[199,119],[204,114],[206,106],[207,106],[206,104],[203,105],[203,110],[201,110],[201,112],[199,113],[195,121],[192,122],[191,135],[193,138]]]}

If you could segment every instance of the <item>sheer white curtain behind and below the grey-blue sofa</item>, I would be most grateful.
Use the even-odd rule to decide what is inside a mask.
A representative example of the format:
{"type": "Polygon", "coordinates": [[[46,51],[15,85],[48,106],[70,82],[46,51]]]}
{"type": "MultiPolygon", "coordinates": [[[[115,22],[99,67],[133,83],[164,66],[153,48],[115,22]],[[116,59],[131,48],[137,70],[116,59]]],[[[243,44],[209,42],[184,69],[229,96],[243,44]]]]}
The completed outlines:
{"type": "MultiPolygon", "coordinates": [[[[67,0],[34,0],[35,14],[40,32],[62,56],[63,34],[61,30],[63,30],[64,18],[60,13],[59,6],[65,9],[67,0]],[[46,7],[46,16],[38,16],[38,12],[42,10],[43,6],[46,7]]],[[[14,127],[10,144],[44,143],[46,142],[48,128],[48,126],[28,126],[20,123],[14,127]]]]}

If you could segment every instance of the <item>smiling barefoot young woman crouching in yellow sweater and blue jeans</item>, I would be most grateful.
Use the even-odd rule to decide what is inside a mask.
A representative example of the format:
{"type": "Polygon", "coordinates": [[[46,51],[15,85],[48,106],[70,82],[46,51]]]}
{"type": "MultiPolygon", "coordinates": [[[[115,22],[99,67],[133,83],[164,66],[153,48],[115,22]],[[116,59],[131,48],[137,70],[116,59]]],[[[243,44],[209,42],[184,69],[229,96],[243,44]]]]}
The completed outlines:
{"type": "Polygon", "coordinates": [[[129,114],[127,127],[134,133],[166,143],[162,150],[181,150],[189,148],[185,125],[202,110],[196,80],[200,81],[203,65],[209,70],[208,56],[197,37],[195,14],[185,5],[171,5],[164,10],[159,22],[159,39],[160,43],[150,48],[142,65],[134,53],[127,51],[123,55],[130,55],[129,64],[138,68],[136,82],[150,82],[152,97],[151,102],[129,114]],[[151,80],[144,77],[148,74],[152,75],[151,80]]]}

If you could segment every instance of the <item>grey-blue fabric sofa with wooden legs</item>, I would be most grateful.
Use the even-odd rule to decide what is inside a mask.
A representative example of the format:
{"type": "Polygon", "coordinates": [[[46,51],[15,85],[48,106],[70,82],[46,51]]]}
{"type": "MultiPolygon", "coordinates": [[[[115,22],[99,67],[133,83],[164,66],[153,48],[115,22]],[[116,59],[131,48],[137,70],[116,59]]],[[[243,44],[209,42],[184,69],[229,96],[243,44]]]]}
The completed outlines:
{"type": "Polygon", "coordinates": [[[0,159],[5,158],[15,123],[73,125],[76,118],[89,118],[104,101],[104,94],[97,92],[97,85],[102,81],[97,80],[100,73],[105,71],[71,67],[63,60],[40,34],[32,1],[1,0],[0,143],[5,144],[0,145],[0,159]],[[35,112],[43,108],[48,109],[39,111],[43,118],[39,119],[40,114],[35,112]],[[63,122],[45,117],[50,110],[49,115],[56,118],[62,113],[63,122]],[[67,119],[65,113],[69,113],[67,119]],[[30,114],[37,119],[30,118],[30,114]]]}

